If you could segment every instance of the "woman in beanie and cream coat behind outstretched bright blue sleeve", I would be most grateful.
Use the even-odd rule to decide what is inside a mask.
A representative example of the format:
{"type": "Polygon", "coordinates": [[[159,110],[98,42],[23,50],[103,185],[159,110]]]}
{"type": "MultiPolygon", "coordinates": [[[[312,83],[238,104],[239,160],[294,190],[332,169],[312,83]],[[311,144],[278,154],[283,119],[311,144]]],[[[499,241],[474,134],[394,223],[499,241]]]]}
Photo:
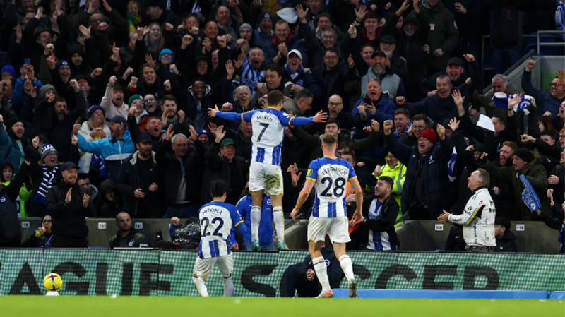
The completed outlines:
{"type": "MultiPolygon", "coordinates": [[[[90,109],[88,109],[88,121],[83,122],[81,130],[79,130],[78,133],[81,133],[81,136],[88,142],[109,137],[111,132],[105,120],[105,115],[106,113],[102,106],[96,105],[90,107],[90,109]]],[[[93,167],[93,173],[90,173],[93,178],[106,177],[103,163],[104,158],[101,155],[83,152],[81,150],[78,152],[81,154],[81,159],[78,160],[78,167],[81,169],[81,173],[89,174],[90,167],[93,167]]]]}

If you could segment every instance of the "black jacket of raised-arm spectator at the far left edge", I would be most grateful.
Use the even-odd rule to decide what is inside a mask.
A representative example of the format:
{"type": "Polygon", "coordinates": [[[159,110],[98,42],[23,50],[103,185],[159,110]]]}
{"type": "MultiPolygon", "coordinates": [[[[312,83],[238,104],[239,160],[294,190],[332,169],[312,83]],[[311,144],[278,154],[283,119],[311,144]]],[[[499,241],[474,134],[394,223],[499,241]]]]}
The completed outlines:
{"type": "MultiPolygon", "coordinates": [[[[8,160],[0,161],[2,169],[6,164],[11,163],[8,160]]],[[[20,193],[23,181],[29,177],[29,171],[28,165],[23,163],[20,172],[16,174],[16,178],[8,186],[2,186],[2,189],[0,189],[0,244],[20,243],[22,239],[16,198],[20,193]]]]}

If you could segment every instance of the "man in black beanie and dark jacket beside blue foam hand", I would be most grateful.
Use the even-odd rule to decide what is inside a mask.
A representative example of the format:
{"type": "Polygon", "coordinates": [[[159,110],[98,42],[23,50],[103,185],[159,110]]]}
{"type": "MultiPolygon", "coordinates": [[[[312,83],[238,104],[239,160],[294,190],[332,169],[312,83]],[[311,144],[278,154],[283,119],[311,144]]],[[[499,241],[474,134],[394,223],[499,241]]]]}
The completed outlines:
{"type": "Polygon", "coordinates": [[[499,179],[501,181],[511,182],[513,188],[516,207],[518,208],[518,220],[537,220],[537,215],[531,213],[525,203],[522,203],[522,191],[524,185],[519,178],[523,174],[532,185],[537,197],[542,202],[542,212],[549,214],[549,198],[547,198],[547,171],[543,167],[540,155],[537,152],[531,152],[527,148],[519,148],[512,153],[512,165],[496,167],[492,162],[487,160],[486,155],[481,157],[481,167],[489,172],[491,179],[499,179]]]}

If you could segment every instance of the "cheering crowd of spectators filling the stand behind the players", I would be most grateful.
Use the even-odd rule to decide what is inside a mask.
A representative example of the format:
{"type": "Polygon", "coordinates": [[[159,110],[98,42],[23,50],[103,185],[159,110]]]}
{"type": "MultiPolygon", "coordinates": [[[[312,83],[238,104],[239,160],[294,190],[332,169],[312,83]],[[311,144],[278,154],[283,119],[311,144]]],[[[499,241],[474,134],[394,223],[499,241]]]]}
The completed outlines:
{"type": "MultiPolygon", "coordinates": [[[[391,177],[398,217],[461,213],[466,179],[482,167],[497,217],[545,219],[521,201],[524,174],[540,213],[565,218],[563,73],[545,92],[532,83],[535,61],[521,89],[502,75],[523,34],[564,30],[563,0],[3,0],[0,10],[0,159],[11,181],[0,191],[0,246],[20,245],[17,217],[52,222],[46,241],[28,245],[86,246],[84,217],[116,218],[110,246],[144,245],[131,219],[172,218],[180,229],[215,179],[236,204],[247,195],[251,124],[208,108],[258,109],[273,90],[292,116],[328,114],[285,129],[285,213],[322,156],[319,134],[333,133],[366,194],[391,177]],[[496,72],[486,95],[483,35],[496,72]],[[475,124],[480,113],[492,131],[475,124]]],[[[374,221],[390,232],[397,217],[374,221]]]]}

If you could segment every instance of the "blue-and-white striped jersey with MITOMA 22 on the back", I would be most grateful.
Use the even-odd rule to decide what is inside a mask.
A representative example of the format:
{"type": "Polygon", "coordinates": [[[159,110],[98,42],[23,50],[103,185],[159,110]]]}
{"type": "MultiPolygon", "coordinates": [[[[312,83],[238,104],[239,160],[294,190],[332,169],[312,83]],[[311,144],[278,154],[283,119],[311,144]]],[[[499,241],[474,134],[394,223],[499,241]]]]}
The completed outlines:
{"type": "Polygon", "coordinates": [[[237,227],[243,222],[237,208],[230,203],[213,201],[200,208],[198,217],[202,236],[198,246],[198,257],[214,258],[230,254],[232,226],[237,227]]]}

